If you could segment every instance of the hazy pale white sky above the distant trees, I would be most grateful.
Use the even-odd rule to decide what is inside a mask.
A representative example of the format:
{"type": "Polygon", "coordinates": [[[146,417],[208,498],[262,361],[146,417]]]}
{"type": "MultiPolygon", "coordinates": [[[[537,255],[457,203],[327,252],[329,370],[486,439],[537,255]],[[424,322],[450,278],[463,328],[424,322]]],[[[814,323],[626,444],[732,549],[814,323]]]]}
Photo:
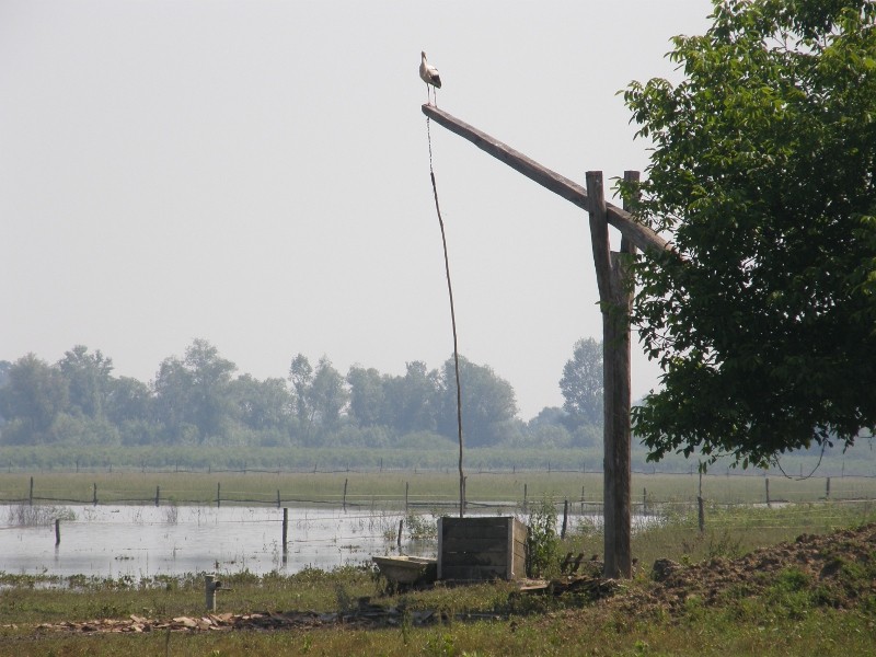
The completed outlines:
{"type": "MultiPolygon", "coordinates": [[[[0,359],[196,337],[384,373],[452,354],[419,51],[438,104],[560,173],[644,170],[615,92],[676,79],[710,0],[0,0],[0,359]]],[[[587,215],[433,125],[460,351],[561,405],[601,337],[587,215]]],[[[613,239],[618,239],[615,234],[613,239]]],[[[634,346],[633,393],[658,371],[634,346]]]]}

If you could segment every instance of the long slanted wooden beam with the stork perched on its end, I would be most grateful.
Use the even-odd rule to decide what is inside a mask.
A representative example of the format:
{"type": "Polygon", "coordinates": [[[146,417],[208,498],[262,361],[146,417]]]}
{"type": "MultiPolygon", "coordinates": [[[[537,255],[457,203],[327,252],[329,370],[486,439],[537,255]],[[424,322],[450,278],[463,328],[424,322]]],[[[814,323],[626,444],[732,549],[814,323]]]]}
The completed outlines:
{"type": "MultiPolygon", "coordinates": [[[[516,151],[510,146],[503,143],[486,132],[482,132],[477,128],[458,119],[443,110],[439,110],[435,105],[423,105],[423,114],[451,132],[464,137],[484,152],[489,153],[515,171],[522,173],[531,181],[539,183],[542,187],[562,196],[588,212],[591,211],[587,192],[577,183],[539,164],[531,158],[516,151]]],[[[643,226],[636,221],[633,215],[626,210],[611,205],[610,203],[606,204],[606,219],[611,226],[621,231],[624,238],[630,240],[630,242],[638,246],[638,249],[646,254],[652,250],[672,250],[669,242],[664,240],[659,234],[647,226],[643,226]]]]}

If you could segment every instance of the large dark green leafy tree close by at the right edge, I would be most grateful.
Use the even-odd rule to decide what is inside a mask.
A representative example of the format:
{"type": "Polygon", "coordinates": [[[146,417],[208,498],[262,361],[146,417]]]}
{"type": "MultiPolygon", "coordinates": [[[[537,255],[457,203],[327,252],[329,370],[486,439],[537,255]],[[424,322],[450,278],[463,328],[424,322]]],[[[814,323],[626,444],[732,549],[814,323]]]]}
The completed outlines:
{"type": "Polygon", "coordinates": [[[653,460],[763,465],[876,424],[876,4],[711,18],[673,39],[682,82],[625,93],[654,145],[636,212],[675,245],[636,266],[664,374],[633,420],[653,460]]]}

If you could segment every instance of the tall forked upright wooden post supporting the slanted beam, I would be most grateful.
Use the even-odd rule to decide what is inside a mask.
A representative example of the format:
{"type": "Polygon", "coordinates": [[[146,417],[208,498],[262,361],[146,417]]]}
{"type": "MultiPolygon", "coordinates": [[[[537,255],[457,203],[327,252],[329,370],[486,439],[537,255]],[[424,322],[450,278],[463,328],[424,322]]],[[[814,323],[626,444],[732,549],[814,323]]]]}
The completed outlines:
{"type": "MultiPolygon", "coordinates": [[[[604,575],[632,577],[631,431],[630,431],[630,311],[633,285],[625,258],[635,246],[621,241],[621,253],[611,251],[602,172],[587,172],[590,240],[602,311],[604,575]]],[[[635,182],[637,172],[624,180],[635,182]]]]}

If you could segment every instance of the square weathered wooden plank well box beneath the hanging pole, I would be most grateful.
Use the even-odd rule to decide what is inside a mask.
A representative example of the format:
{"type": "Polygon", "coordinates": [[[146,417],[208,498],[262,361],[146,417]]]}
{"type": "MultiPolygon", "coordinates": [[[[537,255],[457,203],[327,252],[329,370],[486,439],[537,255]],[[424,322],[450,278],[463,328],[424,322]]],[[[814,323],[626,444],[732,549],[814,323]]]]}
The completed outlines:
{"type": "Polygon", "coordinates": [[[518,579],[526,574],[527,527],[518,519],[438,519],[438,579],[518,579]]]}

